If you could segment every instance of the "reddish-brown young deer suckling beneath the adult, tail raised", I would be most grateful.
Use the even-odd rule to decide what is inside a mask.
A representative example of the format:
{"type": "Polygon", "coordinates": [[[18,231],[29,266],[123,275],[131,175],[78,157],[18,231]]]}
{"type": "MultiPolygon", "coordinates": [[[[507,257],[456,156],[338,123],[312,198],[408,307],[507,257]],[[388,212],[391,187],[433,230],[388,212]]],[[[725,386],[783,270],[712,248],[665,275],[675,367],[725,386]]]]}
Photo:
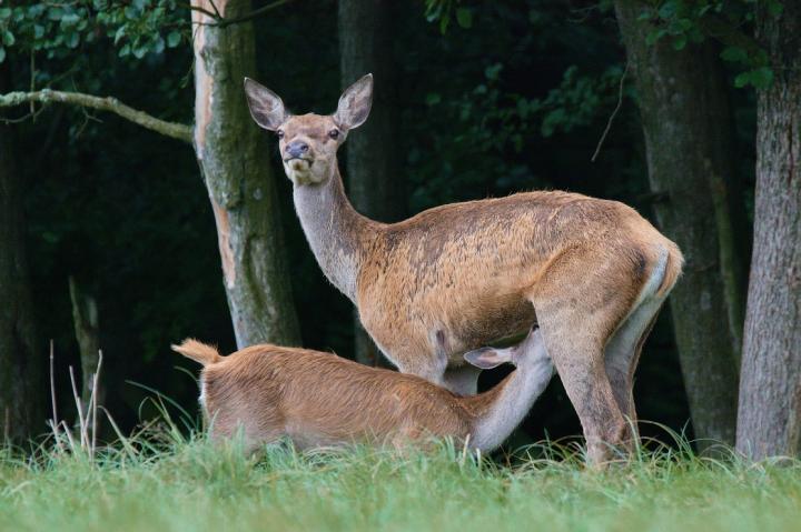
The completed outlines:
{"type": "Polygon", "coordinates": [[[523,420],[553,374],[537,331],[514,348],[466,353],[479,368],[516,365],[492,390],[467,397],[415,375],[306,349],[254,345],[220,357],[191,339],[172,349],[205,367],[200,402],[211,438],[241,430],[249,450],[284,436],[300,449],[354,442],[400,446],[452,436],[491,451],[523,420]]]}

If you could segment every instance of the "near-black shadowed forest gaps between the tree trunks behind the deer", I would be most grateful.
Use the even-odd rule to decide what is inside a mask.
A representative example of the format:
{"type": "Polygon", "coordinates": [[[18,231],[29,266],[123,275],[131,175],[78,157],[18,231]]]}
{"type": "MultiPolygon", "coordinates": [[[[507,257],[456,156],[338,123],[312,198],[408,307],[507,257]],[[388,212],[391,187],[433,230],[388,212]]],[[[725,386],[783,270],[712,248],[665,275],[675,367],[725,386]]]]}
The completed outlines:
{"type": "MultiPolygon", "coordinates": [[[[134,2],[136,3],[136,2],[134,2]]],[[[422,2],[395,2],[392,80],[376,73],[375,92],[392,93],[397,124],[392,150],[403,187],[387,213],[516,191],[562,189],[625,202],[652,220],[664,201],[649,184],[649,165],[632,68],[611,4],[510,1],[458,4],[447,14],[422,2]],[[625,71],[625,74],[624,74],[625,71]],[[619,107],[619,110],[616,108],[619,107]],[[595,161],[593,154],[604,135],[595,161]]],[[[443,2],[449,3],[449,2],[443,2]]],[[[454,6],[452,6],[453,8],[454,6]]],[[[295,112],[333,112],[342,79],[339,6],[293,1],[254,20],[257,68],[251,77],[295,112]]],[[[445,9],[445,8],[443,8],[445,9]]],[[[750,32],[753,21],[744,22],[750,32]]],[[[38,60],[12,53],[2,92],[27,88],[31,67],[63,90],[112,94],[165,120],[192,123],[192,50],[156,47],[120,58],[109,40],[38,60]]],[[[718,53],[723,46],[718,47],[718,53]]],[[[736,204],[753,223],[756,93],[738,88],[742,68],[721,61],[731,106],[728,158],[736,204]]],[[[245,96],[241,96],[245,106],[245,96]]],[[[4,110],[19,118],[26,108],[4,110]]],[[[248,123],[248,128],[257,128],[248,123]]],[[[191,149],[111,113],[50,106],[12,124],[26,217],[24,244],[37,334],[52,339],[60,404],[69,412],[68,367],[80,368],[68,279],[97,301],[105,355],[105,404],[129,430],[155,414],[141,383],[197,411],[197,367],[169,350],[186,337],[236,349],[221,280],[209,197],[191,149]],[[181,371],[187,369],[187,371],[181,371]]],[[[295,217],[277,141],[264,143],[277,183],[291,294],[304,347],[354,358],[353,308],[323,277],[295,217]]],[[[364,134],[355,131],[353,138],[364,134]]],[[[682,158],[682,153],[673,157],[682,158]]],[[[347,158],[339,157],[347,177],[347,158]]],[[[714,217],[713,212],[704,215],[714,217]]],[[[375,214],[382,219],[382,213],[375,214]]],[[[664,230],[664,228],[663,228],[664,230]]],[[[734,239],[750,247],[751,230],[734,239]]],[[[669,238],[673,235],[665,231],[669,238]]],[[[714,237],[710,247],[715,247],[714,237]]],[[[692,259],[691,259],[692,260],[692,259]]],[[[748,268],[749,255],[740,257],[748,268]]],[[[663,309],[636,373],[642,420],[692,436],[671,310],[663,309]]],[[[721,327],[725,328],[721,317],[721,327]]],[[[508,370],[485,372],[483,389],[508,370]]],[[[67,414],[69,415],[69,413],[67,414]]],[[[42,420],[41,431],[47,432],[42,420]]],[[[660,429],[643,425],[645,434],[660,429]]],[[[521,432],[526,439],[581,434],[554,379],[521,432]]]]}

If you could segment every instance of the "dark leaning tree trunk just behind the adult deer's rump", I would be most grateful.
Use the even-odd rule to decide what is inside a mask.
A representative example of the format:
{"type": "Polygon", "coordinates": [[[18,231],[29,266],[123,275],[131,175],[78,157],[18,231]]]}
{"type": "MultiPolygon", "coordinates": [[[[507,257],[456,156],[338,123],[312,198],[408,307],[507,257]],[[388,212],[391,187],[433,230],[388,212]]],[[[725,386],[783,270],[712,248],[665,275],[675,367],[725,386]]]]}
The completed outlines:
{"type": "MultiPolygon", "coordinates": [[[[720,231],[731,225],[724,187],[734,173],[725,78],[711,43],[681,51],[666,40],[649,46],[653,26],[640,20],[644,4],[617,0],[615,6],[640,99],[651,188],[666,197],[654,205],[656,218],[686,258],[670,301],[693,429],[696,438],[733,443],[738,340],[732,331],[739,324],[730,324],[735,318],[726,292],[733,288],[725,280],[739,281],[732,281],[732,264],[723,259],[742,258],[734,257],[733,231],[720,231]]],[[[708,444],[699,442],[701,449],[708,444]]]]}

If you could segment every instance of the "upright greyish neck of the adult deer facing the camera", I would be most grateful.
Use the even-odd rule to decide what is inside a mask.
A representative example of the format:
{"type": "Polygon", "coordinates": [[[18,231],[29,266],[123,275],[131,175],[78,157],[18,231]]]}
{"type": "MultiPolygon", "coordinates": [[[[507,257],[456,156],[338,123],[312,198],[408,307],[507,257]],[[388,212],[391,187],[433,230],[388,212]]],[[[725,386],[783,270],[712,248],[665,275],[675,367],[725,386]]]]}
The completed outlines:
{"type": "Polygon", "coordinates": [[[295,185],[295,211],[328,280],[356,301],[356,280],[382,224],[363,217],[345,195],[339,169],[322,184],[295,185]]]}

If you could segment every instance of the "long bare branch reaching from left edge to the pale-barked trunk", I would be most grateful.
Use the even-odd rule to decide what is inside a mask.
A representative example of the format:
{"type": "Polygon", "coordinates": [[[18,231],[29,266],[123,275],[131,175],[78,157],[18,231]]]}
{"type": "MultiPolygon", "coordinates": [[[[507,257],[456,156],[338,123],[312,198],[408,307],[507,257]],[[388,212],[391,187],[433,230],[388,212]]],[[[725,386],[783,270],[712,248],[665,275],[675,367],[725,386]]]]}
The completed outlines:
{"type": "Polygon", "coordinates": [[[156,131],[157,133],[161,133],[166,137],[171,137],[188,143],[191,143],[192,141],[192,129],[190,126],[160,120],[146,112],[130,108],[111,97],[101,98],[85,94],[82,92],[63,92],[49,89],[33,92],[9,92],[7,94],[0,94],[0,108],[21,106],[28,102],[39,102],[44,104],[66,103],[68,106],[97,109],[98,111],[108,111],[141,126],[145,129],[156,131]]]}

